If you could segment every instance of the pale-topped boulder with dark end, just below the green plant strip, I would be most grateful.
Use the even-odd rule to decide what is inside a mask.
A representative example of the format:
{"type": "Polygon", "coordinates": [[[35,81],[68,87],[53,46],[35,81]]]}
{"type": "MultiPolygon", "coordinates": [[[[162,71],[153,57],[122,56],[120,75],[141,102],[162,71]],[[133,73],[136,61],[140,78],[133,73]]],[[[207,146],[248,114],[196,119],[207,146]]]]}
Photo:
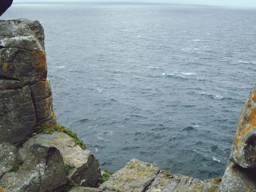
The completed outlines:
{"type": "Polygon", "coordinates": [[[89,150],[82,150],[67,134],[59,132],[37,134],[20,149],[21,158],[26,156],[29,147],[34,144],[57,147],[64,159],[64,164],[74,166],[69,170],[68,177],[78,185],[86,187],[97,185],[101,176],[98,159],[89,150]]]}

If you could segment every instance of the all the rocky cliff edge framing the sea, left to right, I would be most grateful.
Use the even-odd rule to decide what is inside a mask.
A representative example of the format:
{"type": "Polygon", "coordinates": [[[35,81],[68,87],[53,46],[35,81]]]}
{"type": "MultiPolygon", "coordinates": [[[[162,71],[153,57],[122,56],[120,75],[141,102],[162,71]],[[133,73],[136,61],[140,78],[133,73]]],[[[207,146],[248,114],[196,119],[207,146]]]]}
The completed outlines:
{"type": "Polygon", "coordinates": [[[102,179],[94,154],[56,123],[44,38],[37,21],[0,20],[0,192],[256,191],[256,88],[223,177],[202,181],[132,159],[102,179]]]}

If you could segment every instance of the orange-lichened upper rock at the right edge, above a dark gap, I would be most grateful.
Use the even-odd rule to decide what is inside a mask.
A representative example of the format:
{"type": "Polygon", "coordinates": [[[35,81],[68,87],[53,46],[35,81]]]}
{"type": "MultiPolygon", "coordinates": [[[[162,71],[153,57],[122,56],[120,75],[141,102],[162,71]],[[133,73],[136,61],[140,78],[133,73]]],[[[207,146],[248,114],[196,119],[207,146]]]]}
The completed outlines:
{"type": "Polygon", "coordinates": [[[238,120],[230,161],[244,168],[256,168],[256,87],[249,94],[238,120]]]}

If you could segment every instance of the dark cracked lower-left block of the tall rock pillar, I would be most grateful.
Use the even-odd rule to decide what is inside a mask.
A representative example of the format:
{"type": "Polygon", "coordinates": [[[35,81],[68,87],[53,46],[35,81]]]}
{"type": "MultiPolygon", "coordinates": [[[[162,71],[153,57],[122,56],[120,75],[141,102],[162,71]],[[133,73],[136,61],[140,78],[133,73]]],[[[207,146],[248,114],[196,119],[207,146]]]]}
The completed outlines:
{"type": "Polygon", "coordinates": [[[0,142],[21,142],[36,125],[29,85],[0,91],[0,142]]]}

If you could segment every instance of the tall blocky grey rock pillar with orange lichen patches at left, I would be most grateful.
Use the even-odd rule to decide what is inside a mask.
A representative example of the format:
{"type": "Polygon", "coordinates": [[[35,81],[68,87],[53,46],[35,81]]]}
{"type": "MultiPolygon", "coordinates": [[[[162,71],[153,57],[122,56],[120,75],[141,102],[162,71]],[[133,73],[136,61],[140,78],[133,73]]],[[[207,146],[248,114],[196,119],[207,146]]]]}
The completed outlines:
{"type": "Polygon", "coordinates": [[[55,122],[37,21],[0,20],[0,142],[18,144],[36,123],[55,122]]]}

